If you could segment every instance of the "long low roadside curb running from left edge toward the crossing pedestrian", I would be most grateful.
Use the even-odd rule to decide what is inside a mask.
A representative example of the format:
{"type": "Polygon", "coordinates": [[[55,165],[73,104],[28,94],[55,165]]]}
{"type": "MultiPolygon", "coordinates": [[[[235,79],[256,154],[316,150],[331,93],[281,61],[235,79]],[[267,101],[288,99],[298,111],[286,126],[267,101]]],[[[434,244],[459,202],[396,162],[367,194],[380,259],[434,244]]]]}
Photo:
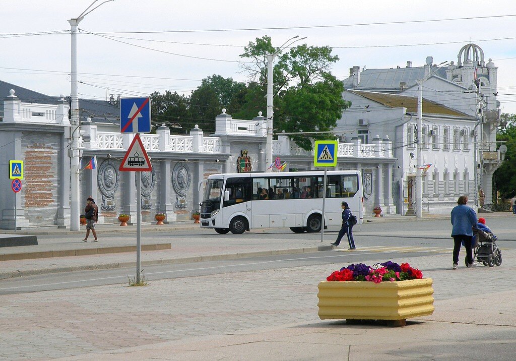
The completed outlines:
{"type": "MultiPolygon", "coordinates": [[[[251,258],[251,257],[263,257],[263,256],[277,256],[287,254],[299,254],[299,253],[311,253],[322,250],[332,249],[332,246],[314,246],[314,247],[303,247],[303,248],[290,248],[290,249],[275,249],[275,250],[260,250],[256,252],[243,252],[233,253],[225,255],[212,255],[212,256],[194,256],[184,258],[170,258],[170,259],[157,259],[150,261],[141,261],[141,265],[159,265],[159,264],[170,264],[170,263],[192,263],[192,262],[207,262],[207,261],[221,261],[221,260],[233,260],[239,258],[251,258]]],[[[24,276],[36,276],[49,273],[61,273],[61,272],[77,272],[77,271],[91,271],[91,270],[108,270],[113,268],[126,268],[135,267],[136,261],[134,262],[115,262],[115,263],[101,263],[91,264],[84,266],[67,266],[58,267],[52,269],[39,269],[39,270],[28,270],[28,271],[12,271],[12,272],[0,272],[0,279],[24,277],[24,276]]]]}

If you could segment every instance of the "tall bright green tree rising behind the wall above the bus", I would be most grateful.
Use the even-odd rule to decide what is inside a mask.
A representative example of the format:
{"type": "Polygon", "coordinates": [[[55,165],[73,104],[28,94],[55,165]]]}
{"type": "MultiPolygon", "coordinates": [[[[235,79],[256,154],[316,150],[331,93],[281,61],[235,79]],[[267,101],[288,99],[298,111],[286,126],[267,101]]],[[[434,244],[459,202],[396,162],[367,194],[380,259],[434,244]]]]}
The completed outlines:
{"type": "MultiPolygon", "coordinates": [[[[281,54],[264,36],[249,42],[241,58],[251,59],[242,67],[249,75],[250,86],[242,112],[236,116],[256,116],[256,109],[265,113],[267,99],[267,54],[278,53],[273,67],[273,127],[286,132],[331,131],[349,103],[342,99],[342,82],[330,72],[338,56],[329,46],[295,46],[281,54]],[[252,114],[249,114],[252,112],[252,114]]],[[[315,139],[334,138],[332,134],[311,134],[315,139]]],[[[302,148],[312,148],[302,134],[291,139],[302,148]]]]}

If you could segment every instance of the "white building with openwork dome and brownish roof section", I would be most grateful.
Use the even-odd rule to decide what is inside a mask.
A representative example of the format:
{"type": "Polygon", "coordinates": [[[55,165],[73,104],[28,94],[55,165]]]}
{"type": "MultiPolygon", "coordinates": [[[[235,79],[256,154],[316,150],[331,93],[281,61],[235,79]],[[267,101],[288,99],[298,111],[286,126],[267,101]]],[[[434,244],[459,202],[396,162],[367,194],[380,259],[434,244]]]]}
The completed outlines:
{"type": "MultiPolygon", "coordinates": [[[[337,130],[351,129],[346,138],[363,143],[378,133],[390,137],[397,159],[392,172],[397,213],[414,214],[417,167],[424,167],[423,212],[448,213],[460,195],[468,195],[470,205],[477,206],[480,189],[489,204],[493,173],[502,159],[496,152],[498,68],[491,59],[485,61],[476,44],[464,45],[457,63],[436,65],[431,56],[425,63],[350,68],[343,98],[352,105],[337,130]],[[416,129],[418,80],[424,80],[422,139],[417,139],[416,129]],[[416,164],[418,142],[422,142],[423,164],[416,164]]],[[[366,169],[363,172],[367,174],[366,169]]]]}

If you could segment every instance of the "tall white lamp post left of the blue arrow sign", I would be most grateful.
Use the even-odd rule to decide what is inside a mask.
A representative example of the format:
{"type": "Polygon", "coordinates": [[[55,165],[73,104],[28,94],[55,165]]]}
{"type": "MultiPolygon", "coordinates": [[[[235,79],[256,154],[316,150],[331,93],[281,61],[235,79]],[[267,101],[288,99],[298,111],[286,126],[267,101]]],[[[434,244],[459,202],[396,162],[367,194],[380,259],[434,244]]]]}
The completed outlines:
{"type": "Polygon", "coordinates": [[[72,120],[70,122],[70,230],[78,231],[79,230],[79,95],[78,95],[78,86],[77,86],[77,25],[79,25],[80,21],[84,19],[84,17],[101,6],[102,4],[108,3],[114,0],[106,0],[93,9],[89,10],[96,2],[99,0],[95,0],[93,3],[88,6],[86,10],[84,10],[77,18],[70,19],[68,22],[70,23],[71,30],[70,34],[71,38],[71,48],[72,48],[72,64],[71,64],[71,83],[72,89],[70,98],[72,100],[71,104],[71,113],[72,120]],[[88,11],[89,10],[89,11],[88,11]]]}

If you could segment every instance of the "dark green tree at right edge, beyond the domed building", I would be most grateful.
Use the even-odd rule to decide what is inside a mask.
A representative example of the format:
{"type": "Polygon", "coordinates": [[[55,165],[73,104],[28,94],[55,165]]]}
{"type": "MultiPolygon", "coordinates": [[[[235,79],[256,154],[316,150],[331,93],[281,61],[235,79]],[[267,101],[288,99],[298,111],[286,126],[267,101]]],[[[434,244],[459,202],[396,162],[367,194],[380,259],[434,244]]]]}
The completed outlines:
{"type": "Polygon", "coordinates": [[[502,118],[507,124],[498,128],[496,140],[506,142],[498,143],[498,148],[505,144],[507,153],[505,162],[494,172],[493,183],[500,196],[507,199],[516,194],[516,114],[502,114],[502,118]]]}

